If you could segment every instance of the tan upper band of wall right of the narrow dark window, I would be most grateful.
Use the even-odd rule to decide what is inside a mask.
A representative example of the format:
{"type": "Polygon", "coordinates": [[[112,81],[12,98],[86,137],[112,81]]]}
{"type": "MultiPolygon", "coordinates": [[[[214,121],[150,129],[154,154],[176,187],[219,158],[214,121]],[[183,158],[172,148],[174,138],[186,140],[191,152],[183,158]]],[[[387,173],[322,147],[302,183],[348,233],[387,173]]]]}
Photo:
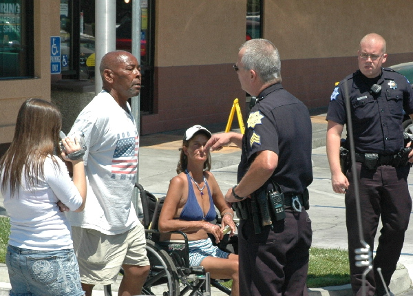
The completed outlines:
{"type": "Polygon", "coordinates": [[[388,53],[413,51],[413,1],[264,0],[264,38],[282,59],[356,56],[370,32],[381,34],[388,53]]]}

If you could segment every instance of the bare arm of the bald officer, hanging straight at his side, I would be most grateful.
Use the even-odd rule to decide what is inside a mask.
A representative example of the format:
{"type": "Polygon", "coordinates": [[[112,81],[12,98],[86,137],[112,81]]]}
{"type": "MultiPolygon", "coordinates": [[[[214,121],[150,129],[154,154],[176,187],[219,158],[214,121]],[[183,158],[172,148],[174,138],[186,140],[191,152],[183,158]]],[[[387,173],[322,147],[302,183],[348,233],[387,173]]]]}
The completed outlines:
{"type": "Polygon", "coordinates": [[[330,164],[332,190],[336,193],[346,193],[348,180],[340,167],[340,141],[343,125],[328,120],[327,125],[327,158],[330,164]]]}

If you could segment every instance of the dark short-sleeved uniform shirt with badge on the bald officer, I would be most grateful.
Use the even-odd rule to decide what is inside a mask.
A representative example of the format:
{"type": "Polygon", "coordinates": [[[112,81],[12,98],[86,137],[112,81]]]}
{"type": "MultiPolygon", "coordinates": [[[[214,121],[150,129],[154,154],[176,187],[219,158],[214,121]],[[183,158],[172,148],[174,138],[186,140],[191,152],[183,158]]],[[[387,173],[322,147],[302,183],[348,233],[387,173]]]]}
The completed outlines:
{"type": "Polygon", "coordinates": [[[354,147],[358,153],[399,152],[403,149],[403,109],[413,114],[413,89],[407,78],[390,68],[381,70],[377,78],[367,78],[360,70],[350,74],[335,87],[328,105],[326,119],[347,124],[344,91],[347,87],[354,147]],[[371,90],[374,83],[381,86],[379,94],[371,90]]]}

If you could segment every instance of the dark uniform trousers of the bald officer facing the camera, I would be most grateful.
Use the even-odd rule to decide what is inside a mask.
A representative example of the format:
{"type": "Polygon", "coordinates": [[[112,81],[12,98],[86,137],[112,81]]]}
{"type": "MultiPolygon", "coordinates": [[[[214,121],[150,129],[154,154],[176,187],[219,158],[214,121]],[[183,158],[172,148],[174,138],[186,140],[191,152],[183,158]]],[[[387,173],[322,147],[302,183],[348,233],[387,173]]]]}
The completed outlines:
{"type": "MultiPolygon", "coordinates": [[[[375,170],[369,170],[362,167],[360,162],[356,162],[356,167],[359,176],[357,180],[363,235],[372,251],[380,216],[383,224],[379,245],[373,260],[374,272],[370,271],[366,276],[367,295],[374,295],[376,286],[383,287],[377,268],[381,268],[385,284],[388,286],[396,270],[396,264],[403,247],[405,231],[412,210],[412,199],[407,187],[407,175],[410,167],[394,168],[383,165],[375,170]]],[[[350,182],[346,193],[346,225],[351,284],[354,294],[361,295],[362,274],[366,267],[355,266],[354,250],[362,246],[357,224],[357,206],[351,169],[347,173],[347,178],[350,182]]]]}

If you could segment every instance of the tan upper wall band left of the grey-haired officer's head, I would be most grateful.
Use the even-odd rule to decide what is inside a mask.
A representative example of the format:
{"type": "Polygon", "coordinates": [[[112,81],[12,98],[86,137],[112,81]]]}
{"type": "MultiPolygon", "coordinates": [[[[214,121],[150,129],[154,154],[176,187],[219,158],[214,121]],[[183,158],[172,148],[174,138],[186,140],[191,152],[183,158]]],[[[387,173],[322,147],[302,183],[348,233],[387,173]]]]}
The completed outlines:
{"type": "Polygon", "coordinates": [[[156,1],[155,66],[235,62],[245,15],[246,0],[156,1]]]}

